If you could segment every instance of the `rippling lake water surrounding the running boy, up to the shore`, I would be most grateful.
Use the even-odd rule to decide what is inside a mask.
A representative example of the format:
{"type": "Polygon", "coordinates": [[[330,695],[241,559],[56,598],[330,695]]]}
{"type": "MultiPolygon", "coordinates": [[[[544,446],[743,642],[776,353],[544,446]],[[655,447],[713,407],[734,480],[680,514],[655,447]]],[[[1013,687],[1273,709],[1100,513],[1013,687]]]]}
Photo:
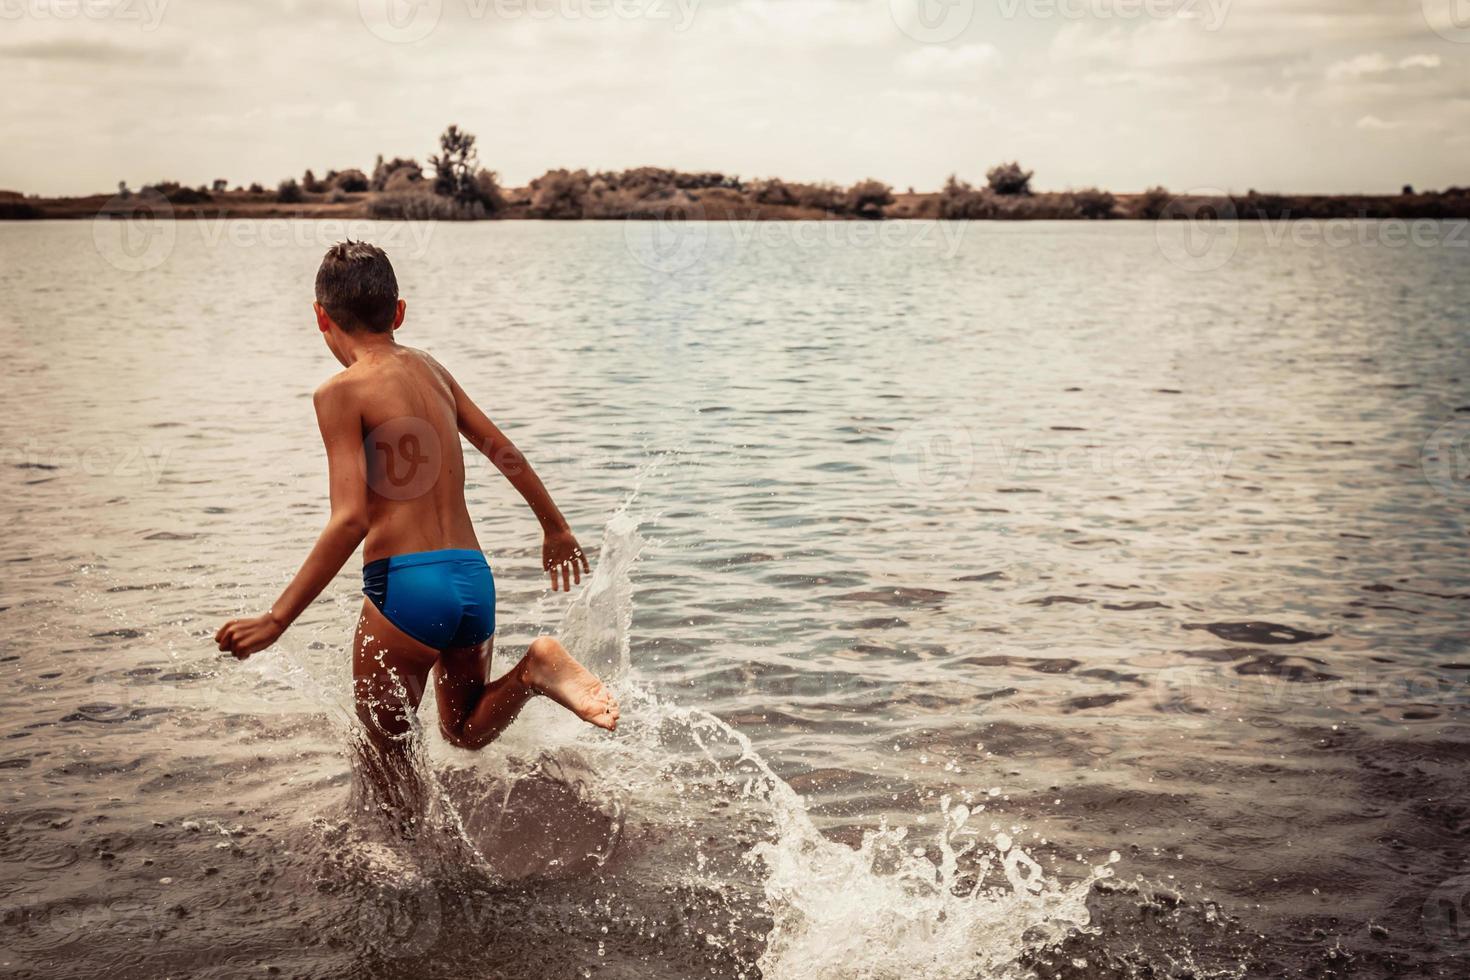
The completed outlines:
{"type": "Polygon", "coordinates": [[[1470,248],[1344,228],[0,223],[0,973],[1464,977],[1470,248]],[[209,642],[326,516],[344,232],[594,551],[472,467],[497,670],[625,702],[429,724],[412,842],[356,560],[209,642]]]}

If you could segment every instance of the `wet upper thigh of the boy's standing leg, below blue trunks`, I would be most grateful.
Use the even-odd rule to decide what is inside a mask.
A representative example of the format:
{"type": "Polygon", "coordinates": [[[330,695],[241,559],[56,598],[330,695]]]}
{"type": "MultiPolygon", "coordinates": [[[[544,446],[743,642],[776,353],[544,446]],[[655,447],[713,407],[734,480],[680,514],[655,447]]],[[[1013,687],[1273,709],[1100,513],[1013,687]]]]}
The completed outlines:
{"type": "Polygon", "coordinates": [[[409,714],[419,708],[429,669],[440,654],[407,636],[363,599],[353,639],[353,695],[357,717],[385,735],[409,730],[409,714]]]}

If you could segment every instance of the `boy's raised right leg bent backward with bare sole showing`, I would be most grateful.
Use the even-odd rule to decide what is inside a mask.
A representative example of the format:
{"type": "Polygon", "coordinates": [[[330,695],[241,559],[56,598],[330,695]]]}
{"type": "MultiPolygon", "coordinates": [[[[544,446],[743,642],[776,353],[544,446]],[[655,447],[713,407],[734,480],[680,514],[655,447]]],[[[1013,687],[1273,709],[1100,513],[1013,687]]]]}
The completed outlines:
{"type": "Polygon", "coordinates": [[[445,741],[467,749],[484,748],[537,693],[584,721],[609,730],[617,727],[617,701],[556,639],[538,636],[519,664],[487,683],[491,642],[447,649],[434,667],[434,698],[445,741]]]}

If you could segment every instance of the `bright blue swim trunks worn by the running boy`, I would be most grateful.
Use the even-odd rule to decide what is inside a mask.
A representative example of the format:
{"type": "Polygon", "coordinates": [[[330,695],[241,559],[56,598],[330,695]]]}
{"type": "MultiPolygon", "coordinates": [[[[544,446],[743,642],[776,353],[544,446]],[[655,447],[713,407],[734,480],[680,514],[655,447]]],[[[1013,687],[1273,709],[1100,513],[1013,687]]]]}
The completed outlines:
{"type": "Polygon", "coordinates": [[[434,649],[475,646],[495,632],[495,579],[479,551],[444,548],[369,561],[363,595],[434,649]]]}

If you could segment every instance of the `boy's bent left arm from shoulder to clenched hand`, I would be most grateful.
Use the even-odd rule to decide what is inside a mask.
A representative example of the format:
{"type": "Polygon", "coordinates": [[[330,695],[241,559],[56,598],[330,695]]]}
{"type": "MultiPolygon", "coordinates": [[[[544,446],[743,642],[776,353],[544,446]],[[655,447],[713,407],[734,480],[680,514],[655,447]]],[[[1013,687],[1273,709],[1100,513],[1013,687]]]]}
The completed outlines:
{"type": "Polygon", "coordinates": [[[357,545],[368,536],[368,483],[363,470],[362,416],[357,401],[341,382],[328,382],[313,397],[316,422],[326,444],[332,516],[316,539],[301,570],[285,586],[270,611],[253,619],[231,620],[215,633],[215,642],[244,660],[281,638],[306,607],[320,595],[357,545]]]}

